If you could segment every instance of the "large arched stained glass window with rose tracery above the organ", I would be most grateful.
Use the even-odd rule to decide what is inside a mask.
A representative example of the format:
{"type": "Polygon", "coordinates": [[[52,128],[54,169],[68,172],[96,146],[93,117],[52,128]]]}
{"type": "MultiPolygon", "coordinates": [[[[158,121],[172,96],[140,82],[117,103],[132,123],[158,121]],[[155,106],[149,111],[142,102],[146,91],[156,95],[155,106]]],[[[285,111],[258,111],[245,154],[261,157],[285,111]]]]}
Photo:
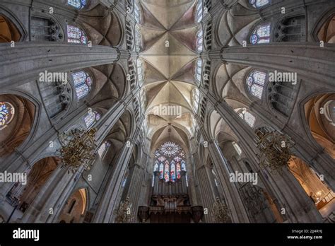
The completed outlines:
{"type": "Polygon", "coordinates": [[[159,178],[165,182],[175,182],[182,177],[182,171],[186,171],[185,153],[174,142],[168,141],[162,144],[154,153],[155,163],[153,171],[159,167],[159,178]]]}

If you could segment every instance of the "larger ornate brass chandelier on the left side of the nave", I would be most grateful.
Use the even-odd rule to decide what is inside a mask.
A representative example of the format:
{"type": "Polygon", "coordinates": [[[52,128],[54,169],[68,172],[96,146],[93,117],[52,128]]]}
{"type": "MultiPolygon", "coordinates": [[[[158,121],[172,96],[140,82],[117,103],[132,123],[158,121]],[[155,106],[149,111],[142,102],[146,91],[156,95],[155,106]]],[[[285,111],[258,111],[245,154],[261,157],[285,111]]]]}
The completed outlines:
{"type": "Polygon", "coordinates": [[[69,168],[69,171],[75,172],[83,165],[85,170],[90,170],[95,158],[95,133],[96,129],[71,129],[59,134],[62,146],[57,150],[56,156],[61,160],[61,168],[69,168]]]}

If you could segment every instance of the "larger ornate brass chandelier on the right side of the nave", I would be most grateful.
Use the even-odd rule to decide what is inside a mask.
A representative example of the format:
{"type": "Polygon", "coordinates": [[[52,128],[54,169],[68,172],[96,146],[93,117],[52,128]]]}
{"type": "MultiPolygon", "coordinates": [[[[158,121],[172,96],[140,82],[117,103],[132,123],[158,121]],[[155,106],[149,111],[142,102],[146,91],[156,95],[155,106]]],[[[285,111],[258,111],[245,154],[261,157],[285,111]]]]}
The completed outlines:
{"type": "Polygon", "coordinates": [[[282,168],[288,166],[292,156],[290,149],[293,147],[293,141],[278,131],[266,131],[257,129],[257,140],[261,169],[270,168],[270,172],[281,172],[282,168]]]}

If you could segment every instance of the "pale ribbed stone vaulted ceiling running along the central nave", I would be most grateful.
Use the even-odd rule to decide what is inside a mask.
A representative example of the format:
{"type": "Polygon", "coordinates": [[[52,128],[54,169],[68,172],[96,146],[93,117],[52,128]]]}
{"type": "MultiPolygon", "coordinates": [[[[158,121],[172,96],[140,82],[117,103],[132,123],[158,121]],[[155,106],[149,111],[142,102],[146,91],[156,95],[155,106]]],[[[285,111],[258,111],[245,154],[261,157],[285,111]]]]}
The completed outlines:
{"type": "Polygon", "coordinates": [[[153,141],[175,140],[187,145],[194,131],[192,90],[196,87],[195,0],[141,0],[143,38],[140,59],[145,69],[148,135],[153,141]],[[180,106],[182,115],[156,115],[157,107],[180,106]],[[155,134],[156,135],[156,134],[155,134]]]}

